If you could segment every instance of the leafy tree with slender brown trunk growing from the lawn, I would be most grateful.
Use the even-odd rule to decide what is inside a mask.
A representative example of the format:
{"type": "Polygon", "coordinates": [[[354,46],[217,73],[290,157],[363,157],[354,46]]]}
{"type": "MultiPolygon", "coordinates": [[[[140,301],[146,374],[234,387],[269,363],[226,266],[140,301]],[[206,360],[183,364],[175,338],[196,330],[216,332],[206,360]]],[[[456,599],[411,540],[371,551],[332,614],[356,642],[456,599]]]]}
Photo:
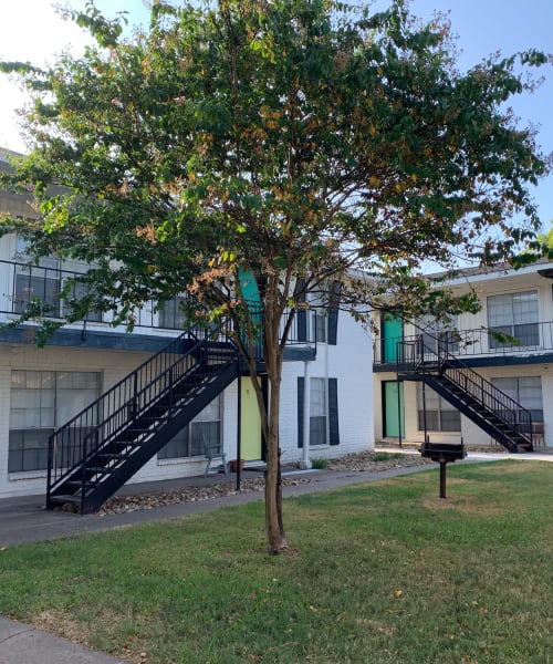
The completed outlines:
{"type": "Polygon", "coordinates": [[[420,264],[490,262],[532,237],[528,185],[547,164],[504,102],[525,87],[519,63],[547,59],[529,51],[461,74],[447,25],[415,22],[403,0],[379,13],[160,1],[133,39],[92,2],[72,15],[97,43],[82,58],[3,64],[33,98],[32,151],[11,181],[32,183],[42,218],[19,231],[36,255],[91,263],[94,294],[75,317],[113,309],[132,325],[142,301],[187,292],[197,315],[232,318],[253,378],[262,334],[268,544],[282,551],[279,397],[296,311],[334,279],[362,320],[389,292],[406,311],[474,305],[430,292],[420,264]],[[262,328],[241,272],[255,279],[262,328]]]}

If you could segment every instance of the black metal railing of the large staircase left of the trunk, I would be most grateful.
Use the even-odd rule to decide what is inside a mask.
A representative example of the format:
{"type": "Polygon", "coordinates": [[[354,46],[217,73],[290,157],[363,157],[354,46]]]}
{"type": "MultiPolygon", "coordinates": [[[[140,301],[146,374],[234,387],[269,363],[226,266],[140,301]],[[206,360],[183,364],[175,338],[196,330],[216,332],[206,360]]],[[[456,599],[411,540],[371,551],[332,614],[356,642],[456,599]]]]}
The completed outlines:
{"type": "Polygon", "coordinates": [[[56,429],[49,440],[48,495],[153,403],[168,398],[170,404],[174,385],[212,361],[207,342],[231,343],[221,329],[192,325],[56,429]]]}

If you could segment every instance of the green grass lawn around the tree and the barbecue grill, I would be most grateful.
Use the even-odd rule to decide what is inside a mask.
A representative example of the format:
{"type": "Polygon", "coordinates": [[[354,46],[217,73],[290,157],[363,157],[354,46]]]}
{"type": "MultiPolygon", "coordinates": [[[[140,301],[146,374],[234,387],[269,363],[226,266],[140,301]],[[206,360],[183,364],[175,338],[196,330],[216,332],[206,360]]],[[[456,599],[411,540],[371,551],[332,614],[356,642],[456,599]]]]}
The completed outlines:
{"type": "MultiPolygon", "coordinates": [[[[553,464],[451,465],[0,552],[0,613],[147,664],[553,657],[553,464]]],[[[0,656],[1,660],[1,656],[0,656]]]]}

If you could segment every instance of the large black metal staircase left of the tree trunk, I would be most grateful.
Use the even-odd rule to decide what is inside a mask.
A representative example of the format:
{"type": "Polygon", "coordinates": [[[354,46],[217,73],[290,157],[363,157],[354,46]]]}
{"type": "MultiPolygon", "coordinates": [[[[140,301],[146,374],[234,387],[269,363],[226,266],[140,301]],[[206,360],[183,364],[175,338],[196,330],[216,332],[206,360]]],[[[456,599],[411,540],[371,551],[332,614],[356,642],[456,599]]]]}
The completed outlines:
{"type": "Polygon", "coordinates": [[[233,343],[184,332],[52,435],[46,508],[95,511],[239,372],[233,343]]]}

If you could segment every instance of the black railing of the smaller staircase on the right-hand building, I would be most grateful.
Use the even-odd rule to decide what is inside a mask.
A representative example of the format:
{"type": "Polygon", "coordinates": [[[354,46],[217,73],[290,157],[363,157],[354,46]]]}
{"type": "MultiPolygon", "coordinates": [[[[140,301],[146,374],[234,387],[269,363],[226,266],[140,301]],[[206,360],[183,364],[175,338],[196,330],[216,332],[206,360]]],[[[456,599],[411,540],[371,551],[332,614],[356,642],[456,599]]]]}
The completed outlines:
{"type": "Polygon", "coordinates": [[[451,354],[446,341],[436,341],[437,351],[424,343],[422,335],[418,335],[414,341],[398,342],[398,373],[445,375],[500,422],[509,425],[515,435],[532,444],[530,411],[451,354]]]}

